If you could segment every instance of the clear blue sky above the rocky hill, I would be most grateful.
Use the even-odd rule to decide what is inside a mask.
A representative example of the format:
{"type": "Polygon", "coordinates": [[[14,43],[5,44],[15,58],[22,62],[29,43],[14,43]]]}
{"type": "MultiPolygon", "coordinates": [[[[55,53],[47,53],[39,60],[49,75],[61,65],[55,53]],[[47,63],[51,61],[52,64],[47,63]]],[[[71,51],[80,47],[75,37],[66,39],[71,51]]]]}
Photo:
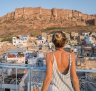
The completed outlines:
{"type": "Polygon", "coordinates": [[[96,0],[0,0],[0,16],[22,7],[71,9],[96,14],[96,0]]]}

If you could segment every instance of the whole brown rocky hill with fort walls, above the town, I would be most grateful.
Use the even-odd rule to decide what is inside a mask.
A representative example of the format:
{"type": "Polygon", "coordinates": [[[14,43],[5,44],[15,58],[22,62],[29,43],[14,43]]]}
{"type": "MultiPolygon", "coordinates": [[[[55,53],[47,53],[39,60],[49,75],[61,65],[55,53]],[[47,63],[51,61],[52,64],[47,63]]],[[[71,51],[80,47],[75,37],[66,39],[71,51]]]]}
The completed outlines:
{"type": "Polygon", "coordinates": [[[0,17],[0,35],[26,34],[50,27],[73,27],[96,25],[96,15],[76,10],[17,8],[0,17]]]}

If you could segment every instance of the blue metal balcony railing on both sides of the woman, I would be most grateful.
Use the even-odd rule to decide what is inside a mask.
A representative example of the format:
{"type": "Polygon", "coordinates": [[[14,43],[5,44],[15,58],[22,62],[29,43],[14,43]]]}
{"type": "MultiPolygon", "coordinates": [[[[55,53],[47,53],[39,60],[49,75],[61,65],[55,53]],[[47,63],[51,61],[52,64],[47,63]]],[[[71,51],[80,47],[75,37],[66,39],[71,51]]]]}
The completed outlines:
{"type": "MultiPolygon", "coordinates": [[[[0,63],[0,91],[41,91],[46,67],[0,63]]],[[[96,69],[77,69],[81,91],[95,91],[96,69]]]]}

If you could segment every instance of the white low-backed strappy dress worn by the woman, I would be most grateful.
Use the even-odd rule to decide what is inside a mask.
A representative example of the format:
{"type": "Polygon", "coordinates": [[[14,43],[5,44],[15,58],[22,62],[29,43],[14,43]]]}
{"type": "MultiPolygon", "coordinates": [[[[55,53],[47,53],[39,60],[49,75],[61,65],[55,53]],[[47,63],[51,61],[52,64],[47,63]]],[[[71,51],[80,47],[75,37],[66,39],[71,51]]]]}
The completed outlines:
{"type": "Polygon", "coordinates": [[[70,68],[71,68],[71,55],[69,57],[69,69],[67,74],[62,74],[57,67],[56,58],[53,54],[53,72],[52,81],[48,87],[48,91],[74,91],[71,83],[70,68]]]}

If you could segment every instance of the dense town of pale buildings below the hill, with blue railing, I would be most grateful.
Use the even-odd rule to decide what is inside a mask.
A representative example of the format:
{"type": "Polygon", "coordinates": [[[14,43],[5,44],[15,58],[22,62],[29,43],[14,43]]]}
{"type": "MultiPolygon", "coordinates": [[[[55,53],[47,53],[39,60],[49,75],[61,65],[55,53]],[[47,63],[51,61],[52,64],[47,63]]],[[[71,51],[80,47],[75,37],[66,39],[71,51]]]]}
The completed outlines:
{"type": "MultiPolygon", "coordinates": [[[[46,53],[55,50],[54,32],[18,35],[0,42],[0,91],[40,91],[46,72],[46,53]]],[[[64,50],[77,55],[81,91],[95,91],[96,32],[64,32],[64,50]]],[[[2,40],[2,39],[1,39],[2,40]]]]}

